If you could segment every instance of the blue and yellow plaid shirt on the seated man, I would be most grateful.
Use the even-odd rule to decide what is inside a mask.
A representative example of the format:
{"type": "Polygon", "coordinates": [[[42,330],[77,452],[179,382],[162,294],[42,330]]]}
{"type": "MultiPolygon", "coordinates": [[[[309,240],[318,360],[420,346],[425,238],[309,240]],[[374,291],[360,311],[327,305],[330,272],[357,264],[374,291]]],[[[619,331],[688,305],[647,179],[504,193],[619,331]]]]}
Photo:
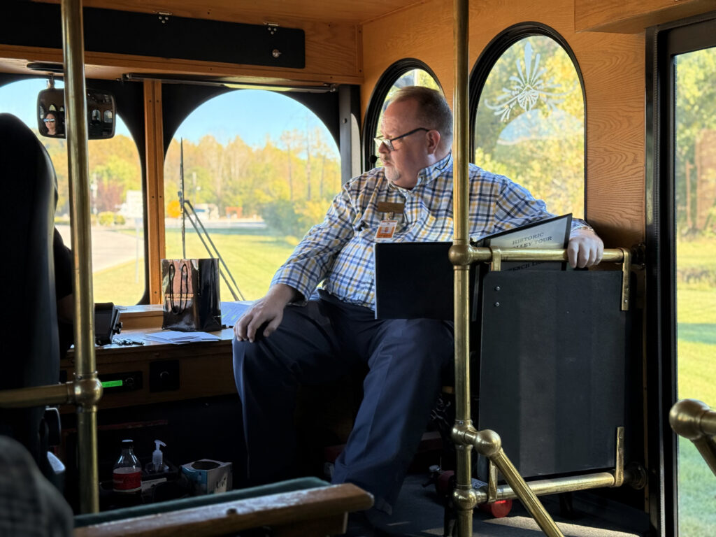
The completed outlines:
{"type": "MultiPolygon", "coordinates": [[[[544,202],[525,188],[470,164],[473,241],[551,216],[544,202]]],[[[584,225],[584,221],[575,219],[573,225],[584,225]]],[[[350,180],[334,198],[325,220],[306,233],[271,285],[289,285],[308,298],[320,283],[339,299],[375,309],[373,246],[385,240],[453,240],[452,153],[420,170],[411,190],[387,180],[383,168],[350,180]],[[386,203],[405,204],[405,209],[402,213],[384,211],[386,203]],[[376,238],[385,220],[397,221],[395,233],[390,239],[376,238]]]]}

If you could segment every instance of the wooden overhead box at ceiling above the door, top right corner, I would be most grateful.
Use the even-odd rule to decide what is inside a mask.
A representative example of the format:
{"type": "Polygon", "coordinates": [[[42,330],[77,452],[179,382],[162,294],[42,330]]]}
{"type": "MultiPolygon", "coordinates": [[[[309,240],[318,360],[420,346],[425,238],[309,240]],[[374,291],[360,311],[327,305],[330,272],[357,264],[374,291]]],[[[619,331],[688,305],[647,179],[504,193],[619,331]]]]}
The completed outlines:
{"type": "Polygon", "coordinates": [[[577,32],[638,34],[649,26],[713,9],[713,0],[574,0],[574,28],[577,32]]]}

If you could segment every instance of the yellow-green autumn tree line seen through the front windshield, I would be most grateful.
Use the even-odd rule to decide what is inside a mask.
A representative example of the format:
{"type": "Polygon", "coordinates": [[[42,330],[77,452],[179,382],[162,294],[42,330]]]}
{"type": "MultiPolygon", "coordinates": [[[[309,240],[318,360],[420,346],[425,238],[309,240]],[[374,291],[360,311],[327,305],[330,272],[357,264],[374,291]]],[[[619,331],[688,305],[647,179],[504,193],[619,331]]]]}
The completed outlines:
{"type": "MultiPolygon", "coordinates": [[[[42,138],[57,173],[57,214],[69,213],[67,142],[42,138]]],[[[165,156],[167,208],[178,203],[180,140],[165,156]]],[[[341,187],[341,164],[332,140],[319,127],[286,130],[280,140],[266,137],[261,147],[240,136],[222,144],[213,135],[183,140],[185,198],[193,205],[213,205],[219,216],[258,217],[277,233],[301,236],[323,218],[329,200],[341,187]]],[[[142,173],[132,139],[116,135],[89,141],[92,211],[119,211],[128,190],[142,190],[142,173]]],[[[171,210],[166,211],[168,215],[171,210]]]]}

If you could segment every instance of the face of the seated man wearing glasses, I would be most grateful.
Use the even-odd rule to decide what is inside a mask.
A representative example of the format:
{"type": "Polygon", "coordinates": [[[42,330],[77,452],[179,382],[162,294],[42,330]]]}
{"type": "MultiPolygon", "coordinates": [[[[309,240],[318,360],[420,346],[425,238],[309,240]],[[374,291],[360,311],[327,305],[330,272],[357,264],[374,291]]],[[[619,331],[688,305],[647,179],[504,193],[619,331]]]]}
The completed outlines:
{"type": "MultiPolygon", "coordinates": [[[[394,102],[383,114],[380,133],[384,138],[395,138],[418,127],[417,103],[415,100],[394,102]]],[[[395,140],[395,150],[389,151],[385,144],[378,147],[383,161],[385,176],[402,188],[412,188],[417,183],[417,174],[430,165],[427,132],[419,130],[412,135],[395,140]]]]}

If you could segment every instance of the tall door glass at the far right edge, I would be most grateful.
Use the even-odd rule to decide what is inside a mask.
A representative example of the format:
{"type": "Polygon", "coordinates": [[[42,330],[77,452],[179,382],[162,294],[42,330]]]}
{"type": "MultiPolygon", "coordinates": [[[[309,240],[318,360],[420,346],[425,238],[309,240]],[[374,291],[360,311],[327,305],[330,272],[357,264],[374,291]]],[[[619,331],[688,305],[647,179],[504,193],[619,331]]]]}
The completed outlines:
{"type": "MultiPolygon", "coordinates": [[[[716,406],[716,47],[674,57],[677,399],[716,406]]],[[[716,483],[679,437],[679,535],[716,527],[716,483]]]]}

